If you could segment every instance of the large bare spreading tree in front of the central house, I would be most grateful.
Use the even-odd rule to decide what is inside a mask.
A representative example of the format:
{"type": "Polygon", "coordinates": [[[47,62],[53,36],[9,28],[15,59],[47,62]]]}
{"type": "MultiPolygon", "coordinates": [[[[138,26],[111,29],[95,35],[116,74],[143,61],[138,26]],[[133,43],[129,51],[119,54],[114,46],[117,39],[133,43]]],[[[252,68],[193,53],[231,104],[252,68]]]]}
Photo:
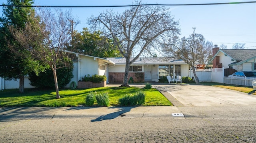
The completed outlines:
{"type": "Polygon", "coordinates": [[[159,43],[180,32],[179,23],[162,6],[134,6],[122,14],[106,10],[98,17],[90,18],[88,24],[92,29],[100,28],[106,37],[114,39],[126,59],[121,86],[128,86],[129,67],[143,52],[154,51],[151,49],[159,47],[159,43]]]}

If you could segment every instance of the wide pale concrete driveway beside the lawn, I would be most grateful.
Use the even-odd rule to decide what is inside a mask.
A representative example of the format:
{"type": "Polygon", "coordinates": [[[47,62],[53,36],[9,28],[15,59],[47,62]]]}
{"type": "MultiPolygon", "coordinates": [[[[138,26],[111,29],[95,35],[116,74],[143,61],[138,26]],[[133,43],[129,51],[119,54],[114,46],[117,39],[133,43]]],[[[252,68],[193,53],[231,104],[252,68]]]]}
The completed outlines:
{"type": "Polygon", "coordinates": [[[256,96],[203,85],[154,85],[174,106],[255,106],[256,96]],[[177,104],[177,105],[175,105],[177,104]]]}

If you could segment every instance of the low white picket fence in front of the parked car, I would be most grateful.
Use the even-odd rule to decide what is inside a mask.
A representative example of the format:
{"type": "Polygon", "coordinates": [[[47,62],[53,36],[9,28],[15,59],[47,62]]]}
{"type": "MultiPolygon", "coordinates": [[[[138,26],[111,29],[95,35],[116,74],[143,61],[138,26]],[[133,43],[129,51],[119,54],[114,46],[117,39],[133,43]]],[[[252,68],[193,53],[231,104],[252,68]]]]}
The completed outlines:
{"type": "Polygon", "coordinates": [[[252,81],[253,80],[256,80],[256,78],[252,78],[252,77],[237,78],[237,77],[224,76],[224,83],[226,83],[226,84],[252,86],[252,81]]]}

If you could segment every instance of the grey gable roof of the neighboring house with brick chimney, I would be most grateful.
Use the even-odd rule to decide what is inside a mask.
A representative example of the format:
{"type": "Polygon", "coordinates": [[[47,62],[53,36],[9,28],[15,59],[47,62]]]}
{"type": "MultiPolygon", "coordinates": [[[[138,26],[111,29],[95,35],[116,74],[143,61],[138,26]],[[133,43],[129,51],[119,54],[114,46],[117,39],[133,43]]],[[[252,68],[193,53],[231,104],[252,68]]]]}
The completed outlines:
{"type": "Polygon", "coordinates": [[[210,63],[217,55],[220,54],[220,52],[226,54],[231,59],[234,59],[234,63],[230,63],[229,66],[240,65],[246,61],[249,61],[250,59],[256,58],[256,49],[219,49],[219,51],[211,59],[210,63]]]}

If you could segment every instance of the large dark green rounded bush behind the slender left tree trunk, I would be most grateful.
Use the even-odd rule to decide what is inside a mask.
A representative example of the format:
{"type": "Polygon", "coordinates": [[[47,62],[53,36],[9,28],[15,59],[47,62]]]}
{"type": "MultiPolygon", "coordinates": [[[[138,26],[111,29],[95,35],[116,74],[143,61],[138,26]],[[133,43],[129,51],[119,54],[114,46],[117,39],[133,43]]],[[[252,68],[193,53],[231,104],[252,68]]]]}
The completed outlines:
{"type": "MultiPolygon", "coordinates": [[[[70,67],[57,69],[56,73],[58,86],[59,88],[62,88],[66,86],[73,78],[73,65],[70,67]]],[[[35,74],[35,72],[30,72],[28,76],[30,85],[35,86],[36,88],[55,88],[53,72],[51,69],[46,69],[45,72],[40,72],[38,76],[35,74]]]]}

